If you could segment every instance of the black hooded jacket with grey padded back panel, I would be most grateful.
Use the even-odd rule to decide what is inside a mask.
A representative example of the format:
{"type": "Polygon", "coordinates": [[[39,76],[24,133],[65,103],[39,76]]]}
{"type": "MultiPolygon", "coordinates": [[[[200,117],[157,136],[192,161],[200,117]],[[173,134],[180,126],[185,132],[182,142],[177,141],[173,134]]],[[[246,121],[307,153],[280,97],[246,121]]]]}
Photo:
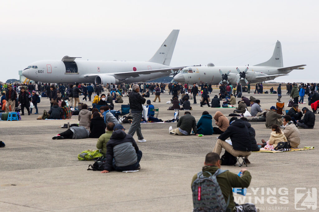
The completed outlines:
{"type": "Polygon", "coordinates": [[[113,158],[117,167],[129,166],[137,162],[137,144],[133,137],[123,130],[114,131],[106,147],[104,170],[113,170],[113,158]]]}

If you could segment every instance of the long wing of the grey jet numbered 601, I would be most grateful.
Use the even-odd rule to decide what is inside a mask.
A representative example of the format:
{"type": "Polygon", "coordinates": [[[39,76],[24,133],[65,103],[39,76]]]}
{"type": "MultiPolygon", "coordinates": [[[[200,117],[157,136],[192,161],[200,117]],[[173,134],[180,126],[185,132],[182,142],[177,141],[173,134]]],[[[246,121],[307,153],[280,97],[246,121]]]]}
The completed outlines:
{"type": "Polygon", "coordinates": [[[154,69],[154,70],[145,70],[145,71],[136,71],[136,72],[115,72],[115,73],[96,73],[96,74],[86,74],[84,76],[84,78],[95,78],[96,76],[99,76],[99,75],[112,75],[114,76],[115,78],[118,78],[118,79],[121,79],[121,78],[127,78],[128,76],[129,77],[139,77],[141,74],[151,74],[151,73],[165,73],[167,72],[167,76],[172,74],[172,71],[173,70],[174,72],[178,71],[178,70],[182,70],[183,68],[185,68],[186,66],[184,67],[175,67],[175,68],[167,68],[167,69],[154,69]]]}

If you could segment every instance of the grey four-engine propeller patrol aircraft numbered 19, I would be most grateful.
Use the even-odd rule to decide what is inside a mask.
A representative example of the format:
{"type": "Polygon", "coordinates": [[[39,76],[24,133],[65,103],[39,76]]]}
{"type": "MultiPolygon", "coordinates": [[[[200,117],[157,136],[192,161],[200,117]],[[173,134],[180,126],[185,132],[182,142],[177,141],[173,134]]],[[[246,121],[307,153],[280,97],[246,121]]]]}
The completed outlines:
{"type": "Polygon", "coordinates": [[[288,75],[294,69],[304,69],[296,65],[284,67],[281,44],[277,41],[272,57],[264,62],[253,66],[215,66],[209,63],[207,66],[188,66],[182,71],[172,72],[174,80],[180,83],[208,83],[211,85],[224,82],[232,85],[238,83],[258,83],[288,75]]]}

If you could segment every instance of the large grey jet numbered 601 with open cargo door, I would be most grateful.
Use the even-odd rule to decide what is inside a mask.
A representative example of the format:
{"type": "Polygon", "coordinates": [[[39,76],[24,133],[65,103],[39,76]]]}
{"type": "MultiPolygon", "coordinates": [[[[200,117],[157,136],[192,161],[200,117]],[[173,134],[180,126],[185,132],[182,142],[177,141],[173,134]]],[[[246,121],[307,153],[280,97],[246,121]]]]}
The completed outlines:
{"type": "MultiPolygon", "coordinates": [[[[22,74],[39,82],[118,84],[145,82],[168,76],[183,67],[169,66],[179,30],[173,30],[154,56],[147,62],[88,61],[65,56],[61,60],[40,60],[30,64],[22,74]]],[[[185,66],[184,66],[185,67],[185,66]]]]}

